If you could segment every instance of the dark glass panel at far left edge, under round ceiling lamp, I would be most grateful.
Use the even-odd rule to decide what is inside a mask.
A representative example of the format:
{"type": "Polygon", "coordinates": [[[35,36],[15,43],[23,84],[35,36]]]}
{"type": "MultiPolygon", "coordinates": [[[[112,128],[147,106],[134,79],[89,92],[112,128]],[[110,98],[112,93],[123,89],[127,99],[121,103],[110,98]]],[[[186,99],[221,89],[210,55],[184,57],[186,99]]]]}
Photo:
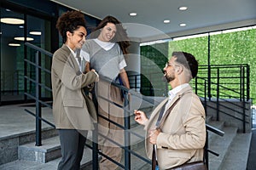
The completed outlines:
{"type": "Polygon", "coordinates": [[[3,18],[24,20],[24,17],[8,8],[1,8],[1,101],[20,100],[24,99],[24,69],[17,60],[24,58],[24,43],[15,37],[24,37],[24,24],[3,23],[3,18]]]}

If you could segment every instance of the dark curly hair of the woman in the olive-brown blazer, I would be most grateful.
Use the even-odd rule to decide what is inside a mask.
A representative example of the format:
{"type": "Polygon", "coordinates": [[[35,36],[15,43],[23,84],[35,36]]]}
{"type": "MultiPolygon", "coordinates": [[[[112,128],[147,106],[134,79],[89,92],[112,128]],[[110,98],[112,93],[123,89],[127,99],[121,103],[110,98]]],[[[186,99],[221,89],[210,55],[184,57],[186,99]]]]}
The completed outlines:
{"type": "Polygon", "coordinates": [[[56,23],[56,28],[61,34],[62,42],[67,41],[67,31],[73,33],[73,31],[79,29],[80,26],[84,26],[86,21],[84,19],[84,14],[80,11],[67,11],[66,13],[61,14],[56,23]]]}

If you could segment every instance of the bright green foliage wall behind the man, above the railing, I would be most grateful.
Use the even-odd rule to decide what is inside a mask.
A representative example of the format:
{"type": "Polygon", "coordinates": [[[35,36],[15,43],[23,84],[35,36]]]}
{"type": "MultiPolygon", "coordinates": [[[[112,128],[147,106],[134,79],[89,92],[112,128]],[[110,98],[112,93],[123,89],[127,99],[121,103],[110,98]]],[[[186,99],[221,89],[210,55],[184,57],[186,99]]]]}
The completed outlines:
{"type": "MultiPolygon", "coordinates": [[[[249,65],[250,96],[251,99],[256,99],[256,77],[254,76],[256,73],[256,29],[211,35],[209,42],[211,65],[249,65]]],[[[175,50],[194,54],[200,65],[208,64],[208,37],[169,42],[169,53],[175,50]]],[[[214,76],[216,74],[212,75],[214,76]]],[[[234,87],[230,86],[230,88],[234,87]]],[[[229,94],[235,95],[232,95],[232,92],[229,94]]]]}

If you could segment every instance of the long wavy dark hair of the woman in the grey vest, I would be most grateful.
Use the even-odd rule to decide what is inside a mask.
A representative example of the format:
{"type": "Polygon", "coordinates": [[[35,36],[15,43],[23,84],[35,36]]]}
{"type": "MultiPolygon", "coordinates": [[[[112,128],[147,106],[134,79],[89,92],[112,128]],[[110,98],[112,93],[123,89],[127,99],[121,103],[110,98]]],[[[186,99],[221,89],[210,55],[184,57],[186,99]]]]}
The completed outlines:
{"type": "Polygon", "coordinates": [[[116,26],[116,34],[111,40],[111,42],[117,42],[119,43],[119,47],[122,49],[123,54],[128,54],[127,48],[130,46],[129,38],[127,35],[127,32],[125,28],[122,26],[122,23],[114,18],[113,16],[106,16],[98,26],[94,29],[94,31],[91,33],[91,38],[96,38],[100,35],[101,29],[104,26],[107,26],[108,23],[112,23],[116,26]]]}

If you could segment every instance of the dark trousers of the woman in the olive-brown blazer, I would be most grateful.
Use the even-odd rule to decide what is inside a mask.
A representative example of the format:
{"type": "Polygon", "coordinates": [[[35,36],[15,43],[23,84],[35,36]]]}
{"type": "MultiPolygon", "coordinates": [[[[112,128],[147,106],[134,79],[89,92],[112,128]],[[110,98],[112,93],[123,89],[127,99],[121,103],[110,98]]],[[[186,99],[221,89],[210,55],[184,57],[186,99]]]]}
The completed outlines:
{"type": "Polygon", "coordinates": [[[88,131],[58,129],[61,141],[61,161],[58,170],[79,170],[88,131]]]}

